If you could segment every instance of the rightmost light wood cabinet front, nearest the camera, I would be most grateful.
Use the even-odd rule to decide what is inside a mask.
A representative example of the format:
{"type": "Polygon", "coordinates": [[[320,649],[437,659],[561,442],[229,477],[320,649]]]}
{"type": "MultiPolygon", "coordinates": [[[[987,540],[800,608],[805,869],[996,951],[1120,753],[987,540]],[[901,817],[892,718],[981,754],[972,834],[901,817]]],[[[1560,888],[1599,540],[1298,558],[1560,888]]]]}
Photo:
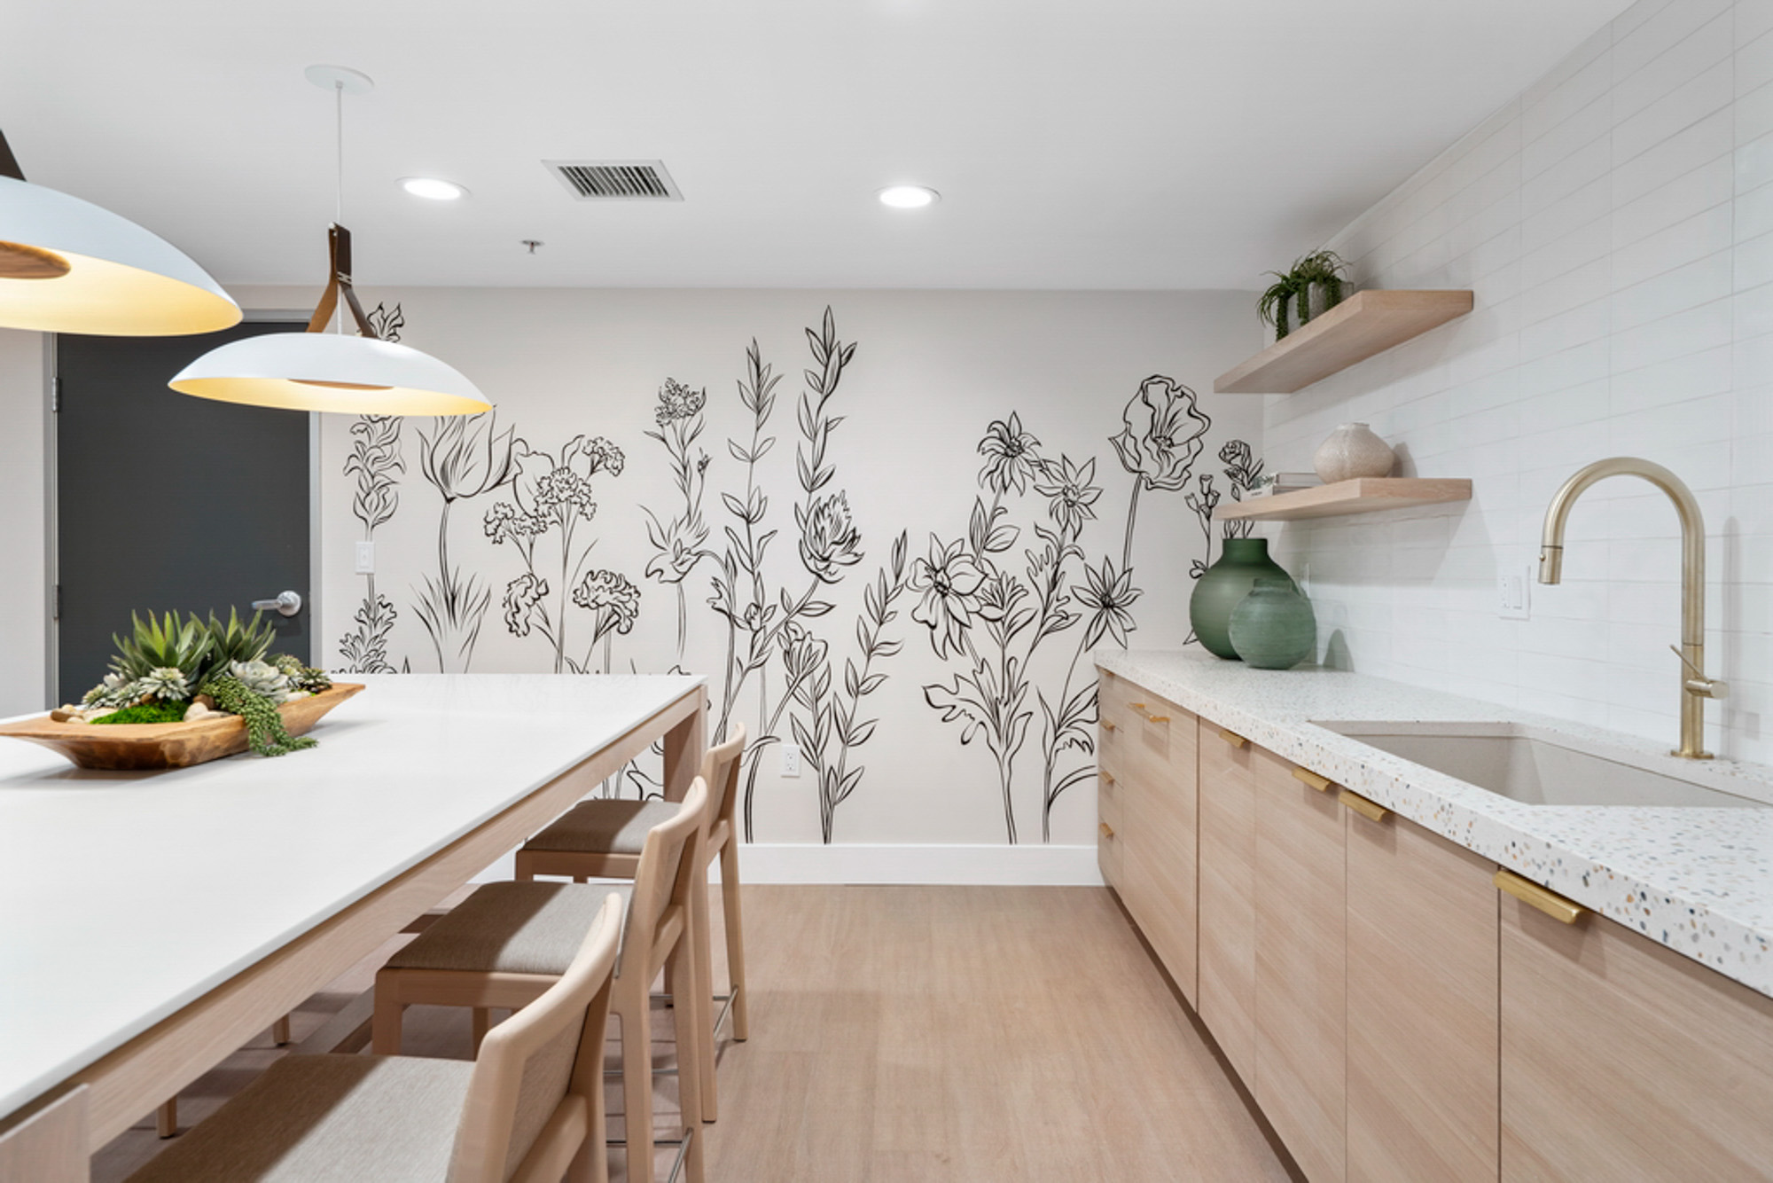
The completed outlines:
{"type": "Polygon", "coordinates": [[[1773,1176],[1773,999],[1502,897],[1502,1179],[1773,1176]]]}

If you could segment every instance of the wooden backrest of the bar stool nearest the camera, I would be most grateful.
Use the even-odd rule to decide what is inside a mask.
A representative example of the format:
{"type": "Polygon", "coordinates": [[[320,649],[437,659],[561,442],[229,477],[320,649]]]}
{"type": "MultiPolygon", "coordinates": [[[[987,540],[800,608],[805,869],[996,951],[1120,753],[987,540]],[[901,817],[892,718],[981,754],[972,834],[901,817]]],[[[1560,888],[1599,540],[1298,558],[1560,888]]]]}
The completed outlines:
{"type": "MultiPolygon", "coordinates": [[[[603,1041],[621,938],[622,897],[610,892],[566,975],[486,1034],[449,1183],[505,1183],[532,1148],[571,1158],[583,1137],[601,1130],[603,1041]]],[[[594,1153],[601,1160],[601,1146],[594,1153]]]]}

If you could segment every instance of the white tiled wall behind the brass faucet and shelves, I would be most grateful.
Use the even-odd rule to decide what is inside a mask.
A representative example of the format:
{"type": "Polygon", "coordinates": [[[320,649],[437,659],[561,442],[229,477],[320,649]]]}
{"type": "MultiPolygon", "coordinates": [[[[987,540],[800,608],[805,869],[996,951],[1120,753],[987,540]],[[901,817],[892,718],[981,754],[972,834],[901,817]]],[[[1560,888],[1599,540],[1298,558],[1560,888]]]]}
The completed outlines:
{"type": "Polygon", "coordinates": [[[1603,482],[1566,580],[1502,621],[1551,493],[1645,456],[1699,493],[1723,754],[1773,759],[1773,4],[1644,0],[1330,241],[1367,287],[1472,287],[1477,310],[1291,397],[1275,468],[1365,420],[1404,474],[1472,477],[1447,513],[1275,529],[1319,639],[1358,670],[1672,740],[1674,511],[1603,482]],[[1764,718],[1766,717],[1766,718],[1764,718]]]}

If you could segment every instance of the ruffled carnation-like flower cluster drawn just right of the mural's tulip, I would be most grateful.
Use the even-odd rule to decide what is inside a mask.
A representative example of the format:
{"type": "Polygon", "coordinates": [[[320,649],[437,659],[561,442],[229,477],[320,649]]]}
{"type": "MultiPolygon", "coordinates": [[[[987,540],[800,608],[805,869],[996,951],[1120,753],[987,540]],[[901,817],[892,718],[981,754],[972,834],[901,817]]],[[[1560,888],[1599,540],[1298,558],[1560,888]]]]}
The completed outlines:
{"type": "MultiPolygon", "coordinates": [[[[511,500],[495,502],[482,518],[493,544],[509,543],[525,568],[523,575],[505,585],[505,628],[512,637],[528,637],[532,630],[541,633],[553,646],[557,674],[587,672],[592,649],[610,630],[606,623],[594,624],[583,662],[567,654],[569,596],[571,603],[594,614],[594,623],[603,621],[603,607],[585,603],[582,598],[585,589],[580,585],[585,560],[596,546],[596,539],[583,541],[578,534],[583,523],[598,516],[592,479],[603,474],[619,477],[624,463],[622,449],[603,436],[573,436],[558,454],[532,449],[519,440],[511,500]],[[544,550],[543,539],[551,539],[553,546],[544,550]]],[[[635,612],[638,612],[638,592],[635,592],[635,612]]],[[[619,631],[626,633],[628,628],[619,631]]]]}

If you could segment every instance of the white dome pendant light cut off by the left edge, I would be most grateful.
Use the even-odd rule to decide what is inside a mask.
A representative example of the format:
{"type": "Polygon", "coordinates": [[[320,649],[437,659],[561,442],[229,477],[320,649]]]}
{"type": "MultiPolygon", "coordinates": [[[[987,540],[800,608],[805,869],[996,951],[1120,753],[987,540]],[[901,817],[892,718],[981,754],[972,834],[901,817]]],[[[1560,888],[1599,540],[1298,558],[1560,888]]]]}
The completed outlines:
{"type": "Polygon", "coordinates": [[[92,202],[32,184],[0,133],[0,328],[213,333],[239,305],[190,255],[92,202]]]}

